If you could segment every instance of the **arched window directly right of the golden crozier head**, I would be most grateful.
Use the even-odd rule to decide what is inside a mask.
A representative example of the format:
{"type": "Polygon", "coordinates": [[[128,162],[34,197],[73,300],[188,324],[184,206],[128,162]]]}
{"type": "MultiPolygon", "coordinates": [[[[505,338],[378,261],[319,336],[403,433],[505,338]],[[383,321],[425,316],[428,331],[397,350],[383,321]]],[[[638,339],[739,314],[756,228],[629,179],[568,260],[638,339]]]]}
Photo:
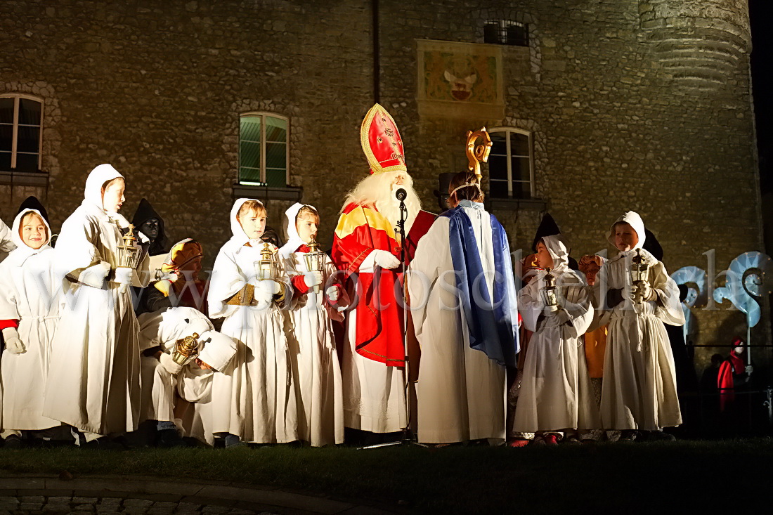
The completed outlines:
{"type": "Polygon", "coordinates": [[[489,196],[530,199],[534,190],[532,133],[512,127],[489,129],[489,196]]]}

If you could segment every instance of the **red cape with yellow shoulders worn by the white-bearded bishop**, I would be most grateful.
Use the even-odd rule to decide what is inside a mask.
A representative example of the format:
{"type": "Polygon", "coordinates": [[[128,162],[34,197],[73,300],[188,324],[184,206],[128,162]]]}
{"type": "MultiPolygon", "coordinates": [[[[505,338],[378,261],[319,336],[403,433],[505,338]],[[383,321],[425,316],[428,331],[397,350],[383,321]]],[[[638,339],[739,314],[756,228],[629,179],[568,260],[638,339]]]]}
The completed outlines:
{"type": "MultiPolygon", "coordinates": [[[[408,234],[407,263],[412,250],[434,220],[434,215],[421,211],[408,234]]],[[[374,250],[388,251],[400,259],[400,244],[394,227],[375,206],[350,203],[339,217],[333,237],[332,261],[349,275],[349,286],[356,285],[355,350],[360,356],[386,364],[404,367],[402,274],[400,268],[375,273],[359,272],[359,266],[374,250]],[[354,275],[352,275],[354,274],[354,275]]]]}

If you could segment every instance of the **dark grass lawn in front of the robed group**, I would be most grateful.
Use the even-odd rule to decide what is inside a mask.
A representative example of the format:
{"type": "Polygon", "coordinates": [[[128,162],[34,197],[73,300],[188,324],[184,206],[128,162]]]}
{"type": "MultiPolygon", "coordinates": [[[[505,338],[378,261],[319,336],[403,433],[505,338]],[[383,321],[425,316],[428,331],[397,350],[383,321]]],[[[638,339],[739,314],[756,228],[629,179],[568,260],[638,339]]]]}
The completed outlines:
{"type": "Polygon", "coordinates": [[[410,513],[771,513],[773,439],[551,448],[0,449],[2,476],[137,474],[377,500],[410,513]],[[401,501],[398,503],[398,501],[401,501]]]}

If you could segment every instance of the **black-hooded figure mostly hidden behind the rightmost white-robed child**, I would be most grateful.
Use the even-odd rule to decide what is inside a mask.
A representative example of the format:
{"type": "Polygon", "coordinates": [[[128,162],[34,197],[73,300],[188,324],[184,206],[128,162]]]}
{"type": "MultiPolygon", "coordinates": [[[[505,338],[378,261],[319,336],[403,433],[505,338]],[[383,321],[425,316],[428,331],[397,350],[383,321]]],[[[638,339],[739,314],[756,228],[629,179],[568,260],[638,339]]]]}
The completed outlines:
{"type": "MultiPolygon", "coordinates": [[[[642,248],[652,254],[656,260],[663,261],[663,247],[652,234],[652,231],[645,229],[645,240],[642,248]]],[[[686,289],[679,288],[679,300],[683,301],[686,297],[686,289]]],[[[694,393],[698,389],[698,377],[695,373],[687,346],[684,341],[684,331],[682,326],[671,326],[663,324],[666,327],[666,333],[669,336],[671,352],[674,355],[674,367],[676,367],[676,393],[679,397],[679,404],[682,407],[683,428],[690,431],[690,426],[695,421],[696,406],[694,406],[694,397],[687,397],[687,392],[694,393]]]]}

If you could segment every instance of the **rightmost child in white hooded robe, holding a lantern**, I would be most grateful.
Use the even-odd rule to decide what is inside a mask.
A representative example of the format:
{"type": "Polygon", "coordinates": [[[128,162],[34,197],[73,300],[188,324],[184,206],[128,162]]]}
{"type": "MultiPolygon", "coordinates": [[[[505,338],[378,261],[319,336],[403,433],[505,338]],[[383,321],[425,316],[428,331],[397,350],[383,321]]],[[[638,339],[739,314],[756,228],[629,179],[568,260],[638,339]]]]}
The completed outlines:
{"type": "Polygon", "coordinates": [[[620,217],[608,240],[620,252],[604,263],[594,285],[597,323],[609,324],[601,421],[605,429],[622,430],[621,440],[634,440],[641,432],[649,439],[673,440],[662,428],[681,424],[682,414],[673,353],[661,322],[684,324],[679,289],[666,267],[642,248],[645,228],[638,213],[620,217]],[[633,285],[637,252],[649,265],[649,278],[633,285]]]}

